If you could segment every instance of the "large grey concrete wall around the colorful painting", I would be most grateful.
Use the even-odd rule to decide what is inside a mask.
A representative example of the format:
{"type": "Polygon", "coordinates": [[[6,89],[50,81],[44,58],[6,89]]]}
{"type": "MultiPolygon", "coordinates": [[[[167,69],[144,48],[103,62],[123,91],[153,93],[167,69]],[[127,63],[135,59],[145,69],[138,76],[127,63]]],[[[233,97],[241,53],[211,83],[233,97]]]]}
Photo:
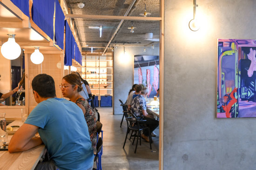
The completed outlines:
{"type": "Polygon", "coordinates": [[[164,170],[255,170],[256,119],[216,119],[217,38],[256,39],[255,0],[165,0],[164,170]]]}

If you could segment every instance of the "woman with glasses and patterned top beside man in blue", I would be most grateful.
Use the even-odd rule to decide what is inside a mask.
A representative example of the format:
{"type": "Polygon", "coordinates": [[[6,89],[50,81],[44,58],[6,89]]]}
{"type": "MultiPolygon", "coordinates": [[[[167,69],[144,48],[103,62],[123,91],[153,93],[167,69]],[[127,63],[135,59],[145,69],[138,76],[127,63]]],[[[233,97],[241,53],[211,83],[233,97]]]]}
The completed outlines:
{"type": "Polygon", "coordinates": [[[64,97],[70,99],[79,106],[84,114],[84,119],[88,125],[88,131],[90,139],[92,142],[92,147],[94,152],[96,152],[97,145],[97,126],[96,126],[96,117],[93,111],[93,108],[89,105],[88,101],[79,94],[82,90],[82,83],[80,78],[75,74],[70,74],[62,78],[62,83],[60,85],[61,92],[64,97]]]}

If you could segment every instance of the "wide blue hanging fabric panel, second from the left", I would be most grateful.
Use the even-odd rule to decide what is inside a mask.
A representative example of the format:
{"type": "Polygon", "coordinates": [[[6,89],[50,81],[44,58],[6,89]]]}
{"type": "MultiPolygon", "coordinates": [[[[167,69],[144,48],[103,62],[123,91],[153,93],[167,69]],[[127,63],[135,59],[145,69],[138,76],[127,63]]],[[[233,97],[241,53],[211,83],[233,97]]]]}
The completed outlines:
{"type": "Polygon", "coordinates": [[[33,0],[32,19],[51,39],[54,39],[54,1],[33,0]]]}

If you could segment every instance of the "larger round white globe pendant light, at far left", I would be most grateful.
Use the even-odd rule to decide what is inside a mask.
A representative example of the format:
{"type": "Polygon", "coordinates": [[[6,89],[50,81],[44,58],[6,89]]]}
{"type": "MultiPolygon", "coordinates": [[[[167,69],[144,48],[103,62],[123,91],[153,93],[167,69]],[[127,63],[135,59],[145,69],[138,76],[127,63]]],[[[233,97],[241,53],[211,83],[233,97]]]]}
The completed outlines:
{"type": "Polygon", "coordinates": [[[20,45],[15,42],[15,34],[7,34],[8,41],[5,42],[1,47],[1,53],[3,57],[14,60],[20,57],[21,49],[20,45]]]}

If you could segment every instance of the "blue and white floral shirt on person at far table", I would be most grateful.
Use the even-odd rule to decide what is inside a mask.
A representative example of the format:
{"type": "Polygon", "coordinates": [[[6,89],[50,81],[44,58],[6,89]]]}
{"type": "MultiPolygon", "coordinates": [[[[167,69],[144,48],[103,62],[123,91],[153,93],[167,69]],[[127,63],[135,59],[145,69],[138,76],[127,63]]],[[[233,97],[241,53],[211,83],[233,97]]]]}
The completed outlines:
{"type": "Polygon", "coordinates": [[[135,114],[135,116],[143,116],[142,110],[147,110],[146,104],[146,99],[141,94],[139,94],[133,99],[132,111],[135,114]]]}

